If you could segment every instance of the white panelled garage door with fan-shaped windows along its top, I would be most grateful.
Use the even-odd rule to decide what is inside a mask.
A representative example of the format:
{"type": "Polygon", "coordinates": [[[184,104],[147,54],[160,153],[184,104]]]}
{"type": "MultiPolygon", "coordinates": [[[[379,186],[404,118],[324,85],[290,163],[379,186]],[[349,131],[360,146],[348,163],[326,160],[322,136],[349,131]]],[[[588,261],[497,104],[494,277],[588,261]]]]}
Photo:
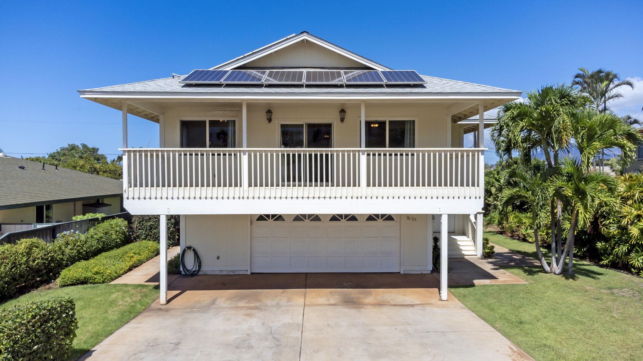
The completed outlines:
{"type": "Polygon", "coordinates": [[[399,272],[397,215],[253,215],[252,272],[399,272]]]}

